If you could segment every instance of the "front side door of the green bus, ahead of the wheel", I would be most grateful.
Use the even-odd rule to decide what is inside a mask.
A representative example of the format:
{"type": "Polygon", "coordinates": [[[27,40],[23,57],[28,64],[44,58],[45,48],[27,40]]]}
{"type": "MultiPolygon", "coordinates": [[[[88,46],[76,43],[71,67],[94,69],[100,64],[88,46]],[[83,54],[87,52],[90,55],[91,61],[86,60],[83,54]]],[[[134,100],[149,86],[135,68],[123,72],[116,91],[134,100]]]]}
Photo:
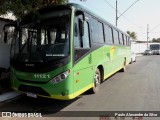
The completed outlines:
{"type": "Polygon", "coordinates": [[[74,24],[74,92],[75,95],[92,87],[93,68],[89,22],[82,15],[75,17],[74,24]]]}

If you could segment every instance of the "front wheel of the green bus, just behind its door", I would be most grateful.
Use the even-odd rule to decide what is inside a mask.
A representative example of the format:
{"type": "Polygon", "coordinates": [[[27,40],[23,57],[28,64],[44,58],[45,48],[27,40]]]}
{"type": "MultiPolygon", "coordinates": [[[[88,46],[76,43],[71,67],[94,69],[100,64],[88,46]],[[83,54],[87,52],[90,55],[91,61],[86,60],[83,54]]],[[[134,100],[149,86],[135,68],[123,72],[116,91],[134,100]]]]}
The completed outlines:
{"type": "Polygon", "coordinates": [[[94,75],[94,86],[91,88],[91,93],[95,94],[99,91],[99,86],[101,83],[101,73],[99,69],[96,69],[95,75],[94,75]]]}

